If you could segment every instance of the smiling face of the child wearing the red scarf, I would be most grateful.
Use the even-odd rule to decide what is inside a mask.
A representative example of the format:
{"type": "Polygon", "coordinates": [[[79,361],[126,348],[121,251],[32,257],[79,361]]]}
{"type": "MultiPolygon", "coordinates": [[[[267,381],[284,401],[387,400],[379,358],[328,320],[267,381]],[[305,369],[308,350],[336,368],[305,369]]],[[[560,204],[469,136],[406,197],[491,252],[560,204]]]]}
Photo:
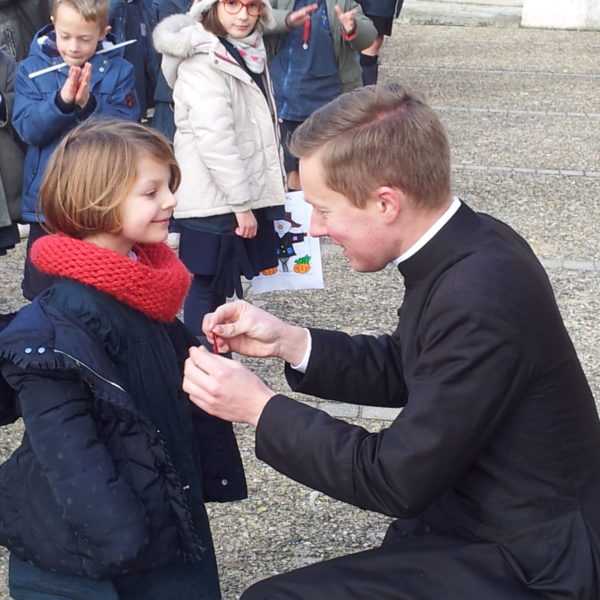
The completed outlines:
{"type": "Polygon", "coordinates": [[[140,154],[136,179],[123,201],[121,230],[92,235],[86,241],[125,256],[135,244],[164,242],[169,233],[169,219],[177,204],[169,189],[170,179],[167,164],[149,154],[140,154]]]}

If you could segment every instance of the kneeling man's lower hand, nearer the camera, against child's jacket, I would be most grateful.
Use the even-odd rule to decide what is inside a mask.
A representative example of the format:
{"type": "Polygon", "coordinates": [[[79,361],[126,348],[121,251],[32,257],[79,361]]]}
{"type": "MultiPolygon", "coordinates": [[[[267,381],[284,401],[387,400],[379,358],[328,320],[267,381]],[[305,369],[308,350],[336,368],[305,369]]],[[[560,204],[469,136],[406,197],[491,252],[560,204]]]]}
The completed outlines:
{"type": "Polygon", "coordinates": [[[241,363],[190,348],[185,361],[183,390],[203,411],[234,423],[256,427],[267,402],[275,395],[241,363]]]}

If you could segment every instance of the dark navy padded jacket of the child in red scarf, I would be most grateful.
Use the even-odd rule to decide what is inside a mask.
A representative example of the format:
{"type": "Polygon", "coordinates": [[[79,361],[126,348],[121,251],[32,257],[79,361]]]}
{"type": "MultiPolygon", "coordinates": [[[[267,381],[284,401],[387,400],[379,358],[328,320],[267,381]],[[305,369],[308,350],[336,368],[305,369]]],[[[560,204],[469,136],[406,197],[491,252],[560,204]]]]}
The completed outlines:
{"type": "Polygon", "coordinates": [[[26,429],[0,466],[1,545],[92,578],[199,560],[199,502],[246,484],[231,424],[181,390],[197,343],[72,280],[21,309],[0,332],[0,419],[26,429]],[[147,416],[161,410],[163,423],[147,416]]]}

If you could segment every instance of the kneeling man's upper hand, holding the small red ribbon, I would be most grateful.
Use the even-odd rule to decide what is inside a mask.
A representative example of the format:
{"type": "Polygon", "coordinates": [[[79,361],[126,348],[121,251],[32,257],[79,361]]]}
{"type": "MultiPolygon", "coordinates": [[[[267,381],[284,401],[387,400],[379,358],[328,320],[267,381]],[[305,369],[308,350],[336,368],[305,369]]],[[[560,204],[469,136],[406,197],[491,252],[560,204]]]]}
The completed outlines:
{"type": "Polygon", "coordinates": [[[205,315],[202,331],[218,351],[245,356],[275,356],[291,364],[304,358],[308,335],[270,313],[238,300],[205,315]]]}

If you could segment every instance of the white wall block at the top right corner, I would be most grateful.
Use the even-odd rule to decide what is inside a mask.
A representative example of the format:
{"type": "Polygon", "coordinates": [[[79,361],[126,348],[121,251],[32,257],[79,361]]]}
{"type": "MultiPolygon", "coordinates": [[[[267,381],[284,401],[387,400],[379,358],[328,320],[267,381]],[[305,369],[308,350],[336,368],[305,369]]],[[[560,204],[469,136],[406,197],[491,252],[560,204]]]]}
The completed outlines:
{"type": "Polygon", "coordinates": [[[600,29],[600,0],[523,0],[521,25],[600,29]]]}

